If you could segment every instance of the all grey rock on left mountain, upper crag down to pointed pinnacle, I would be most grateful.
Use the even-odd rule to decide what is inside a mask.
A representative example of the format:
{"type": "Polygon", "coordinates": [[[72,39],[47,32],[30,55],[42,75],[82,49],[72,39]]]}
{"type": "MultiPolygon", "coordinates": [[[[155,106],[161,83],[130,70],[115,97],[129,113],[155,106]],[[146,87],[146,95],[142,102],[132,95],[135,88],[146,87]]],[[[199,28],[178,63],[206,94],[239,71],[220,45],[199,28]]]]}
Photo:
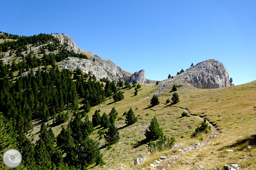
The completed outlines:
{"type": "MultiPolygon", "coordinates": [[[[69,51],[73,50],[75,53],[81,53],[81,51],[84,51],[80,49],[78,46],[76,46],[73,39],[71,39],[66,34],[53,34],[53,36],[57,38],[61,44],[67,43],[68,46],[66,47],[66,49],[69,51]]],[[[85,52],[90,53],[93,56],[89,57],[89,60],[79,60],[77,58],[68,57],[67,59],[60,62],[58,65],[64,67],[65,69],[76,69],[78,67],[83,72],[86,72],[86,74],[88,74],[88,72],[91,71],[92,74],[94,74],[98,80],[100,80],[100,78],[103,77],[108,77],[109,80],[113,80],[116,83],[118,82],[119,78],[121,78],[122,80],[127,79],[128,82],[131,83],[135,79],[138,83],[150,84],[150,81],[146,79],[145,70],[135,72],[130,77],[125,73],[124,70],[116,66],[115,63],[113,63],[111,60],[104,60],[101,59],[100,56],[97,56],[92,52],[85,52]],[[95,59],[96,62],[91,61],[93,59],[95,59]]]]}

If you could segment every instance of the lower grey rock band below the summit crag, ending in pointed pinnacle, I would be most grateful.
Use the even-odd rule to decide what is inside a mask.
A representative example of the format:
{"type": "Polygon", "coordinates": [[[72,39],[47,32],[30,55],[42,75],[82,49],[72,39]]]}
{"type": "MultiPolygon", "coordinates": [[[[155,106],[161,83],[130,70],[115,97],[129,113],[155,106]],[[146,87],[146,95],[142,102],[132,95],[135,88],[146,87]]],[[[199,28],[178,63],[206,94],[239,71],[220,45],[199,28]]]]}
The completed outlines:
{"type": "Polygon", "coordinates": [[[91,71],[91,75],[94,74],[98,80],[100,80],[100,78],[108,77],[109,80],[114,81],[115,83],[118,82],[119,78],[121,78],[121,80],[127,79],[130,83],[133,79],[138,83],[150,83],[150,81],[146,79],[144,70],[135,72],[135,74],[130,77],[111,60],[103,60],[99,56],[94,56],[95,57],[91,56],[90,59],[95,58],[95,62],[86,59],[78,59],[76,57],[68,57],[62,62],[59,62],[58,65],[65,69],[76,69],[78,67],[86,74],[91,71]]]}

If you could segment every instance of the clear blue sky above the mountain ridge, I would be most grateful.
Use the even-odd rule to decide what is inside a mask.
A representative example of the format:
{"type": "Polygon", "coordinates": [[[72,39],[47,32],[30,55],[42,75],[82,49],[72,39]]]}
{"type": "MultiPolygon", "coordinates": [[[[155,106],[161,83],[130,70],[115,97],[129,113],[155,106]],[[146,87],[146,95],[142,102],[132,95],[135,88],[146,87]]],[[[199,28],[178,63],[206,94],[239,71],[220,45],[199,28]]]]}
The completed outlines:
{"type": "Polygon", "coordinates": [[[255,0],[8,0],[0,31],[68,34],[123,70],[164,80],[216,59],[235,85],[256,80],[255,0]]]}

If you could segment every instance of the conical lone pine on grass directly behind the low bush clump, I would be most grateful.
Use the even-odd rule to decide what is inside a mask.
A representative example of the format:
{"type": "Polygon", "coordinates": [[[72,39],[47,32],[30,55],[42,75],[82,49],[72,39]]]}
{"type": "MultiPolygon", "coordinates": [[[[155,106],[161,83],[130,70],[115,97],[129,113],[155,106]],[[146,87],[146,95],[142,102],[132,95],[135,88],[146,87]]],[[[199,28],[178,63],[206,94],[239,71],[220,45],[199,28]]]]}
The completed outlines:
{"type": "Polygon", "coordinates": [[[159,124],[157,122],[156,116],[151,119],[150,126],[145,131],[145,136],[147,141],[155,141],[160,136],[163,136],[163,131],[159,127],[159,124]],[[148,130],[149,129],[149,130],[148,130]]]}

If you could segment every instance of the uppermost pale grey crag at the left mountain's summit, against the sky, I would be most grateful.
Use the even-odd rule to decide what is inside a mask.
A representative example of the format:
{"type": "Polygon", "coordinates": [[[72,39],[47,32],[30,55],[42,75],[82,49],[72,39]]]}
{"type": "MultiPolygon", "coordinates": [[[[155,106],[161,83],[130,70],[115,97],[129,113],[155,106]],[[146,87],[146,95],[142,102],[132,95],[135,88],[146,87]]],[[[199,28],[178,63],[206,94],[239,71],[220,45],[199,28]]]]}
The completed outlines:
{"type": "Polygon", "coordinates": [[[73,39],[71,39],[68,35],[66,34],[53,34],[55,38],[57,38],[60,41],[60,44],[68,44],[66,47],[67,50],[71,51],[73,50],[75,53],[81,53],[81,49],[76,46],[75,42],[73,39]]]}

